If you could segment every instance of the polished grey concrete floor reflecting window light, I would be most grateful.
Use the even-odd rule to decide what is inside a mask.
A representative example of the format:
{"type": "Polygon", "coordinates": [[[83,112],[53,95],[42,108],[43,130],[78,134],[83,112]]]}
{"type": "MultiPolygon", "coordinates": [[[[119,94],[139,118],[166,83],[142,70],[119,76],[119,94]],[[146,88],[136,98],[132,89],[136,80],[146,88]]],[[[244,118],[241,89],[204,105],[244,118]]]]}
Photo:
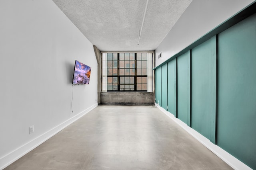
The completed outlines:
{"type": "Polygon", "coordinates": [[[4,170],[230,170],[154,106],[98,106],[4,170]]]}

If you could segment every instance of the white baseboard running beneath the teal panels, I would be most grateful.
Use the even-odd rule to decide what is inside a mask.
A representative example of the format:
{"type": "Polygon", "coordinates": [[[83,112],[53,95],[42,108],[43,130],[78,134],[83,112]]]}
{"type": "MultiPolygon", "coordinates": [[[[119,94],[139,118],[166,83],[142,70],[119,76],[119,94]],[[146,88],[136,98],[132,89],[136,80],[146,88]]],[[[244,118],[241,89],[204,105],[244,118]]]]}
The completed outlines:
{"type": "Polygon", "coordinates": [[[161,106],[158,106],[155,104],[158,109],[160,109],[163,113],[165,113],[168,117],[170,117],[172,120],[174,120],[180,127],[182,127],[184,130],[186,130],[190,135],[192,135],[195,139],[197,139],[200,143],[202,143],[205,147],[207,147],[209,150],[211,150],[214,154],[216,154],[219,158],[221,158],[224,162],[226,162],[229,166],[234,168],[235,170],[252,170],[249,166],[232,156],[230,153],[225,151],[224,149],[220,148],[218,145],[213,144],[210,142],[209,139],[186,125],[183,121],[180,119],[174,117],[174,115],[168,111],[166,111],[161,106]]]}

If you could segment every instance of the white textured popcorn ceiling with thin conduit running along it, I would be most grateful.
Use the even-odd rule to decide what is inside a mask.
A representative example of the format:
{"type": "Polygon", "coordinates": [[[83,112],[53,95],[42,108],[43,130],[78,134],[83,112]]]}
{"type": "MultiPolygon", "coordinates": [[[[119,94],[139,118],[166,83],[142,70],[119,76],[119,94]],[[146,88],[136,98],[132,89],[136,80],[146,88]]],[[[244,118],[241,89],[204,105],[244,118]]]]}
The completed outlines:
{"type": "Polygon", "coordinates": [[[101,51],[150,51],[158,47],[192,0],[53,0],[101,51]]]}

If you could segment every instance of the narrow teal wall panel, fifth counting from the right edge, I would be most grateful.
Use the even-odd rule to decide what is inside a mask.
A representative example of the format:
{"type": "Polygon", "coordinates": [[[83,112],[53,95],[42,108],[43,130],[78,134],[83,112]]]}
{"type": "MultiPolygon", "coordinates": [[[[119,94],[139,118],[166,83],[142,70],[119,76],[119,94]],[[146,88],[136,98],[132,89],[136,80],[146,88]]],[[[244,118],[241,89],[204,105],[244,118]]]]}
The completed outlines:
{"type": "Polygon", "coordinates": [[[161,107],[167,110],[167,64],[162,66],[162,96],[161,96],[161,107]]]}

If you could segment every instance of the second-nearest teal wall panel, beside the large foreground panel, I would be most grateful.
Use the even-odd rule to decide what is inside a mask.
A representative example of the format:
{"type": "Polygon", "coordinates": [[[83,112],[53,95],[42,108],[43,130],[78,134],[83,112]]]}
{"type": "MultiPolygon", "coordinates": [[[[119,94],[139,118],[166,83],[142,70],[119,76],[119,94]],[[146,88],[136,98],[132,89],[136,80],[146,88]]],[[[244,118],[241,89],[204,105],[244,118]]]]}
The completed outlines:
{"type": "Polygon", "coordinates": [[[215,143],[216,36],[191,52],[191,127],[215,143]]]}

